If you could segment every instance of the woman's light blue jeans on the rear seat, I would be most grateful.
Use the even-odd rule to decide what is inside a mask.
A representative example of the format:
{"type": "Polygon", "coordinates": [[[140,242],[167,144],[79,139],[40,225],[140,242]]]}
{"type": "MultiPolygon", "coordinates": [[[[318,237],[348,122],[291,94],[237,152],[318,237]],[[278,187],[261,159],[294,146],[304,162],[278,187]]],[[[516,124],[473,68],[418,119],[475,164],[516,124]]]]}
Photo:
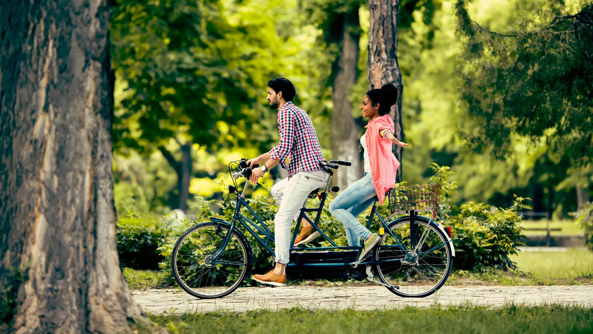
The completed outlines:
{"type": "Polygon", "coordinates": [[[362,240],[371,235],[365,225],[358,222],[358,215],[363,213],[375,201],[377,196],[372,184],[371,173],[347,187],[330,204],[330,213],[344,225],[349,246],[359,246],[362,240]]]}

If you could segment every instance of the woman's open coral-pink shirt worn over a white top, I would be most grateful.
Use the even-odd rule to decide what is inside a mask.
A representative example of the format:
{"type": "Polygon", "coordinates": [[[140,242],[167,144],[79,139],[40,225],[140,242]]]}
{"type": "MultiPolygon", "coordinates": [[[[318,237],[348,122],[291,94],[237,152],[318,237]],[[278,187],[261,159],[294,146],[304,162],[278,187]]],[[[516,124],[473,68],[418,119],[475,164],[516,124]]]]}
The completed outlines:
{"type": "Polygon", "coordinates": [[[366,147],[371,163],[372,184],[377,191],[379,204],[385,201],[385,191],[396,184],[397,168],[400,162],[391,152],[391,141],[381,137],[381,130],[387,129],[395,134],[393,119],[389,115],[379,116],[365,126],[366,147]]]}

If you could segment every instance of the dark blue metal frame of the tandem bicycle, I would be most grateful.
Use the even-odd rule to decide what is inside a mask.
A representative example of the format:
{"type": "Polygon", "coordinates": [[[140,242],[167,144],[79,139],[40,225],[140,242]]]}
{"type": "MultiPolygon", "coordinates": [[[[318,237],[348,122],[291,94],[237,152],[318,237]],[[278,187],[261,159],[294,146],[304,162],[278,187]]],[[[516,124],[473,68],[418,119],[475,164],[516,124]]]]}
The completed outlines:
{"type": "MultiPolygon", "coordinates": [[[[305,203],[303,203],[303,206],[301,208],[301,213],[299,214],[299,217],[297,219],[297,226],[295,228],[294,233],[292,234],[290,250],[291,251],[305,251],[305,250],[307,250],[307,251],[323,251],[323,250],[335,250],[335,249],[356,250],[357,251],[356,257],[358,258],[360,252],[362,251],[362,246],[339,246],[333,240],[331,240],[331,238],[328,237],[318,226],[319,220],[321,218],[321,212],[323,211],[323,206],[325,204],[327,194],[329,193],[329,186],[331,183],[331,178],[333,177],[333,171],[331,171],[331,169],[328,170],[327,172],[330,175],[329,175],[329,178],[327,179],[327,184],[326,184],[325,190],[323,191],[323,193],[320,194],[319,207],[314,208],[314,209],[307,209],[307,207],[305,207],[305,205],[307,204],[308,198],[307,198],[307,200],[305,200],[305,203]],[[307,212],[317,212],[315,219],[311,220],[311,218],[307,215],[307,212]],[[327,241],[330,242],[331,247],[294,247],[294,241],[297,238],[297,232],[299,231],[299,226],[301,225],[301,220],[303,218],[305,220],[307,220],[309,223],[311,223],[311,225],[314,227],[314,229],[317,232],[319,232],[320,235],[323,236],[327,241]]],[[[274,250],[269,245],[270,241],[275,241],[274,234],[272,233],[272,231],[270,231],[269,228],[267,228],[266,224],[264,224],[263,220],[259,218],[257,213],[254,212],[253,209],[251,209],[251,207],[249,206],[249,203],[247,202],[247,200],[245,198],[245,191],[247,189],[248,182],[249,182],[249,179],[246,180],[246,183],[243,187],[243,191],[241,192],[241,194],[237,194],[237,207],[235,207],[235,214],[232,218],[229,232],[227,233],[227,236],[225,237],[221,248],[219,248],[219,250],[216,251],[215,254],[213,254],[213,257],[211,260],[212,262],[215,262],[218,259],[218,257],[222,254],[222,251],[224,251],[224,249],[227,247],[227,244],[228,244],[228,241],[230,240],[232,232],[234,231],[235,228],[238,228],[237,222],[239,222],[251,235],[253,235],[253,237],[260,244],[262,244],[262,246],[267,250],[267,252],[270,254],[270,256],[272,256],[272,257],[276,256],[274,250]],[[246,207],[248,212],[250,212],[251,215],[253,215],[256,222],[252,221],[251,219],[249,219],[245,215],[243,215],[243,213],[241,213],[241,209],[243,207],[246,207]],[[252,228],[252,226],[253,226],[253,228],[252,228]],[[264,239],[262,237],[260,237],[256,231],[259,232],[260,234],[263,234],[264,235],[263,238],[266,238],[266,241],[264,241],[264,239]]],[[[414,212],[414,211],[410,212],[410,217],[411,217],[410,228],[413,229],[413,231],[412,230],[410,231],[411,236],[413,236],[410,245],[412,245],[412,248],[416,248],[416,250],[408,249],[406,247],[406,245],[403,243],[403,241],[401,241],[400,237],[398,237],[398,235],[394,234],[394,232],[391,231],[391,229],[387,228],[388,223],[385,222],[385,219],[382,218],[381,214],[378,212],[376,200],[373,203],[373,206],[371,209],[371,215],[369,216],[369,220],[366,223],[367,229],[371,227],[371,222],[375,215],[379,219],[381,227],[384,228],[388,232],[388,234],[390,234],[391,237],[393,237],[394,240],[396,240],[398,243],[398,245],[381,245],[378,247],[379,248],[401,248],[407,254],[406,257],[404,257],[402,259],[380,260],[380,261],[361,261],[361,262],[350,262],[350,263],[344,263],[344,262],[305,263],[305,264],[301,264],[301,265],[303,265],[304,267],[315,267],[315,268],[343,268],[345,265],[348,265],[349,267],[355,268],[358,265],[369,266],[372,264],[390,263],[390,262],[397,262],[397,261],[402,261],[402,260],[413,261],[416,257],[422,256],[423,254],[428,253],[429,251],[435,250],[436,248],[442,247],[443,245],[447,244],[448,242],[453,241],[453,240],[446,241],[440,245],[437,245],[437,246],[431,248],[431,250],[424,251],[420,254],[416,254],[417,247],[415,247],[415,245],[417,245],[418,241],[422,240],[422,237],[420,237],[420,239],[417,239],[416,232],[415,232],[415,225],[413,223],[415,221],[415,216],[417,215],[417,212],[414,212]]],[[[393,215],[389,216],[388,219],[394,217],[395,215],[397,215],[397,212],[393,213],[393,215]]],[[[435,223],[435,221],[434,221],[435,218],[436,218],[436,213],[433,212],[433,218],[430,220],[430,222],[435,223]]],[[[217,219],[217,218],[211,218],[211,219],[215,222],[225,222],[222,219],[217,219]]],[[[395,220],[396,219],[391,220],[390,223],[395,220]]],[[[289,266],[289,267],[292,267],[295,265],[296,265],[295,263],[287,264],[287,266],[289,266]]]]}

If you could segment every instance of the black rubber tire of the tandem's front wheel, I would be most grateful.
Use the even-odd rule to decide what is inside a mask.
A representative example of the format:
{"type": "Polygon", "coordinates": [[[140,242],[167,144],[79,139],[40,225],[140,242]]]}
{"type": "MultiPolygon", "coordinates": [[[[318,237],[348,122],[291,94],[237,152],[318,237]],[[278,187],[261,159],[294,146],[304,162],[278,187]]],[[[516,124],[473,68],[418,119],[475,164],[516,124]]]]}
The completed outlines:
{"type": "MultiPolygon", "coordinates": [[[[198,231],[199,229],[205,229],[205,228],[209,228],[209,227],[213,227],[215,229],[216,228],[224,229],[225,231],[228,232],[231,226],[228,223],[222,223],[222,222],[205,222],[205,223],[199,223],[197,225],[194,225],[194,226],[190,227],[189,229],[187,229],[185,232],[183,232],[183,234],[181,234],[181,236],[177,239],[175,245],[173,246],[173,251],[171,253],[171,272],[173,273],[173,277],[177,281],[178,285],[184,291],[186,291],[188,294],[190,294],[194,297],[197,297],[197,298],[202,298],[202,299],[222,298],[222,297],[225,297],[225,296],[231,294],[241,285],[241,282],[245,281],[245,279],[251,275],[251,269],[253,267],[251,245],[247,241],[247,238],[245,238],[245,236],[241,233],[241,231],[238,231],[238,229],[235,228],[234,231],[232,232],[231,240],[233,238],[235,238],[235,240],[238,242],[238,244],[241,245],[241,248],[243,250],[243,255],[244,255],[243,262],[244,262],[244,268],[245,268],[243,270],[243,272],[241,272],[241,274],[238,276],[237,280],[228,289],[225,289],[224,291],[222,291],[218,294],[200,293],[200,292],[197,292],[195,289],[192,289],[189,285],[187,285],[187,283],[184,282],[184,279],[181,278],[178,267],[177,267],[177,257],[179,256],[178,252],[180,250],[181,244],[183,243],[183,241],[185,240],[185,238],[188,235],[192,234],[193,232],[198,231]]],[[[202,274],[200,274],[200,275],[202,275],[202,274]]],[[[212,282],[212,283],[214,283],[214,282],[212,282]]]]}

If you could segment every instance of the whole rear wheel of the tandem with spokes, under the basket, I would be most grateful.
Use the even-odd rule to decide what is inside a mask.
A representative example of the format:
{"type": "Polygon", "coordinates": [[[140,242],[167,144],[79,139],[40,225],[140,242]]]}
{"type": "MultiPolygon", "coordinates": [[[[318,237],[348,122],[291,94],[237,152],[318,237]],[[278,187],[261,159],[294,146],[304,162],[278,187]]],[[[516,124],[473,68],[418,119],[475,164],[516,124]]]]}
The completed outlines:
{"type": "Polygon", "coordinates": [[[389,228],[401,239],[410,254],[419,256],[413,261],[404,260],[406,251],[394,237],[385,233],[375,248],[374,260],[401,261],[375,266],[381,282],[396,286],[388,289],[401,297],[426,297],[435,293],[451,273],[451,245],[447,242],[447,237],[434,223],[417,218],[414,225],[410,224],[410,218],[405,218],[392,223],[389,228]],[[431,250],[434,247],[437,248],[431,250]]]}

